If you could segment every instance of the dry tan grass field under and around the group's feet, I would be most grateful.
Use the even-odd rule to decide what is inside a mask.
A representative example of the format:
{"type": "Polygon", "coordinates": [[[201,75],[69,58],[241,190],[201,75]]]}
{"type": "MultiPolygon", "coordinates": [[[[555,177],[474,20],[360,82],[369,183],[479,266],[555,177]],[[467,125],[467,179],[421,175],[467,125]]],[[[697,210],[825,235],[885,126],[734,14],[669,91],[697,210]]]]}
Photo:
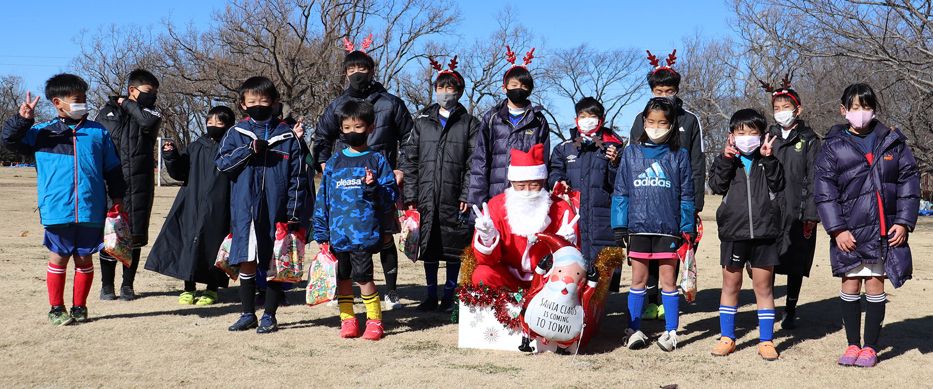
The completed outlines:
{"type": "MultiPolygon", "coordinates": [[[[156,190],[152,241],[176,190],[156,190]]],[[[404,257],[399,293],[406,307],[384,314],[386,336],[376,342],[340,339],[337,309],[304,305],[302,288],[288,294],[295,305],[279,310],[279,332],[230,333],[227,326],[239,315],[235,284],[221,289],[220,304],[182,306],[177,304],[182,283],[143,266],[136,280],[140,299],[101,301],[98,278],[88,303],[91,322],[51,326],[48,251],[34,212],[35,170],[0,168],[0,197],[0,307],[7,316],[0,324],[0,387],[905,388],[928,387],[933,379],[933,309],[924,302],[933,293],[931,218],[921,218],[911,236],[914,279],[898,290],[888,285],[881,362],[875,368],[835,364],[845,336],[838,310],[840,282],[829,273],[825,233],[817,236],[821,243],[813,276],[803,284],[800,328],[775,330],[781,359],[766,362],[757,354],[758,321],[748,282],[736,317],[737,352],[725,358],[709,354],[718,339],[721,285],[715,198],[706,201],[703,212],[701,290],[694,303],[681,304],[678,349],[621,348],[626,295],[611,294],[599,334],[576,358],[585,364],[574,365],[572,356],[457,348],[457,325],[450,316],[413,311],[424,294],[424,271],[404,257]]],[[[69,306],[72,268],[65,292],[69,306]]],[[[376,273],[381,277],[381,271],[376,273]]],[[[623,284],[629,274],[623,270],[623,284]]],[[[779,314],[784,284],[779,276],[779,314]]],[[[359,299],[356,310],[362,317],[359,299]]],[[[662,330],[663,323],[646,322],[649,336],[662,330]]]]}

